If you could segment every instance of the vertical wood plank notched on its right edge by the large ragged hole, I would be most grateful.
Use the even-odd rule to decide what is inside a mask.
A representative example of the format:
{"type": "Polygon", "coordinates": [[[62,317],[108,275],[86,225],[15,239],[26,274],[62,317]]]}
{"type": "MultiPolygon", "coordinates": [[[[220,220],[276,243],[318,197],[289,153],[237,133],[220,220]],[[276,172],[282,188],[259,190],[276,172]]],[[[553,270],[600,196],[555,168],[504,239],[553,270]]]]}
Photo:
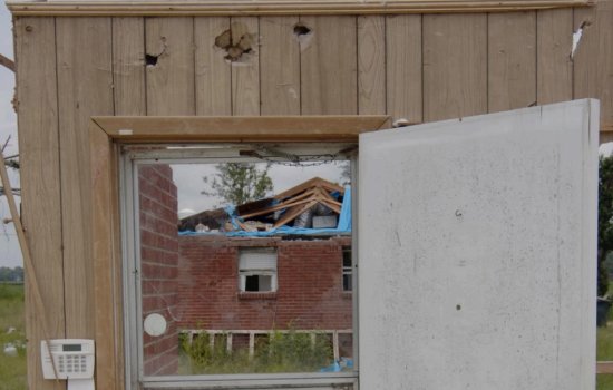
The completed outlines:
{"type": "Polygon", "coordinates": [[[195,18],[196,115],[232,114],[231,65],[215,38],[230,29],[230,18],[195,18]]]}

